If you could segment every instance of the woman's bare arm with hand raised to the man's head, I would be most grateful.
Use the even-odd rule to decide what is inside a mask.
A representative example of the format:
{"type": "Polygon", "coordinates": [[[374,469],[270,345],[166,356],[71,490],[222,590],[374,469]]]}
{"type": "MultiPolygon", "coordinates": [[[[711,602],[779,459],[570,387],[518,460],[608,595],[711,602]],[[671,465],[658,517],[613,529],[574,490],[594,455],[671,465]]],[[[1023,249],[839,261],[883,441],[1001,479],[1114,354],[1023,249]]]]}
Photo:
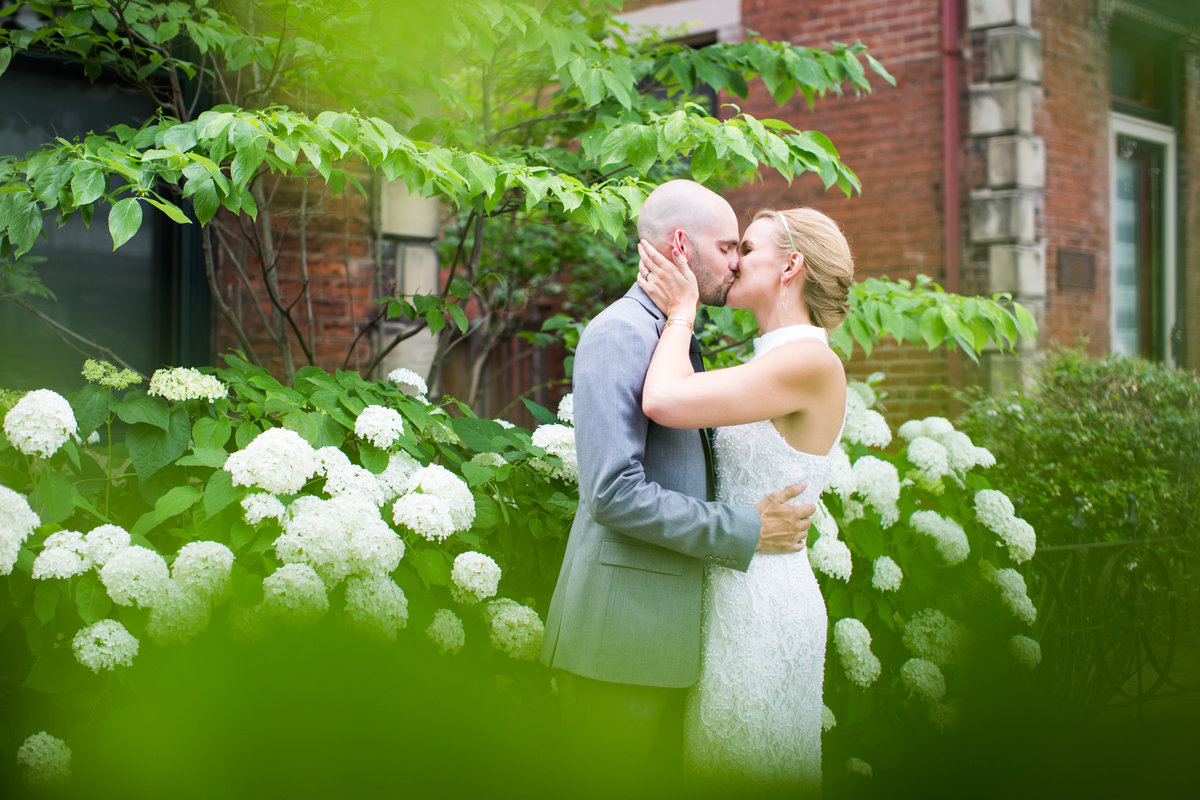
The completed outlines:
{"type": "Polygon", "coordinates": [[[686,261],[679,263],[679,253],[668,261],[647,242],[638,251],[643,269],[637,283],[668,320],[642,387],[642,411],[659,425],[712,428],[770,420],[814,408],[829,381],[842,375],[836,354],[814,341],[791,342],[754,361],[697,373],[688,355],[691,329],[671,323],[695,318],[695,276],[686,261]]]}

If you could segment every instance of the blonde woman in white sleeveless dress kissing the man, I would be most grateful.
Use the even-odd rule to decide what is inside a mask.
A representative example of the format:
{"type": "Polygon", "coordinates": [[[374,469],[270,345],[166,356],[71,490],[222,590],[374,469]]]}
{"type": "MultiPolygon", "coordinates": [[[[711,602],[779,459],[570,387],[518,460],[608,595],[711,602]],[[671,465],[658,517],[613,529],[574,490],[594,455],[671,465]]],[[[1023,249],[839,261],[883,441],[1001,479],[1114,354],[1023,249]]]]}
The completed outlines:
{"type": "MultiPolygon", "coordinates": [[[[754,357],[695,372],[688,350],[696,278],[678,249],[647,241],[637,278],[667,315],[643,411],[676,428],[718,428],[718,499],[754,505],[798,481],[794,503],[828,486],[846,374],[827,332],[848,308],[853,259],[838,224],[812,209],[763,211],[739,243],[727,305],[750,309],[754,357]],[[679,321],[671,321],[679,320],[679,321]]],[[[808,553],[756,553],[746,572],[708,566],[700,681],[688,697],[685,759],[710,778],[809,789],[821,783],[824,600],[808,553]]]]}

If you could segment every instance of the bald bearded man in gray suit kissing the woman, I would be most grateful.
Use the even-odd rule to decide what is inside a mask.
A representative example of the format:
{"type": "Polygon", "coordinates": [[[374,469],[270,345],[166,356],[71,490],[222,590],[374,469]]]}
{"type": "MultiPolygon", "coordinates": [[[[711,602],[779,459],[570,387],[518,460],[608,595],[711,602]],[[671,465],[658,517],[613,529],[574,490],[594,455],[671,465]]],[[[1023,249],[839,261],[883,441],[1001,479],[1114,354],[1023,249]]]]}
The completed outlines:
{"type": "MultiPolygon", "coordinates": [[[[701,302],[725,305],[739,236],[719,194],[692,181],[664,184],[646,199],[637,233],[660,252],[679,247],[701,302]]],[[[557,670],[569,760],[592,765],[596,777],[677,760],[684,690],[700,676],[704,564],[745,571],[756,549],[800,549],[815,511],[785,505],[803,485],[752,509],[710,501],[708,432],[665,428],[642,414],[665,323],[634,285],[588,324],[575,356],[580,506],[541,658],[557,670]]],[[[698,362],[695,339],[692,348],[698,362]]]]}

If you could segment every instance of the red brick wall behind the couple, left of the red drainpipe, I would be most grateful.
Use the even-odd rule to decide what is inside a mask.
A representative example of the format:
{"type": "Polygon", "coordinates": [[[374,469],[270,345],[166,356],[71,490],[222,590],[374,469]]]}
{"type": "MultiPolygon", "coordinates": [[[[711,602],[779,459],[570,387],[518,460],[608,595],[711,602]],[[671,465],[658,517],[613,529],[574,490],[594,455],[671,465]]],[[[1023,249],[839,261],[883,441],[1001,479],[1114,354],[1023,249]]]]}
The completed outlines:
{"type": "MultiPolygon", "coordinates": [[[[812,175],[791,186],[767,175],[731,193],[743,221],[761,207],[811,205],[842,225],[859,276],[923,272],[944,283],[938,0],[745,0],[742,13],[744,25],[766,38],[821,48],[862,40],[898,82],[892,88],[876,78],[872,94],[830,95],[811,110],[803,97],[779,108],[764,91],[752,94],[743,104],[748,113],[826,133],[862,180],[863,193],[846,198],[838,190],[826,192],[812,175]]],[[[931,387],[947,384],[947,361],[944,350],[888,345],[870,359],[856,351],[850,373],[863,378],[882,369],[883,389],[890,393],[888,415],[899,421],[946,413],[946,392],[931,387]]]]}

